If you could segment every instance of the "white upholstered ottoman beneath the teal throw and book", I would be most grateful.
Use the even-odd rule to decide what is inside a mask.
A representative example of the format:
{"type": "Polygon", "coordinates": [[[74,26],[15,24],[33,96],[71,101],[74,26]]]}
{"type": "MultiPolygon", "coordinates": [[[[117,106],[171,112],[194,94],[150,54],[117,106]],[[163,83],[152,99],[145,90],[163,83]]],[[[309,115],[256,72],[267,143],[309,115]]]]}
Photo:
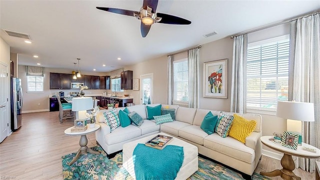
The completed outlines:
{"type": "MultiPolygon", "coordinates": [[[[157,134],[170,136],[163,132],[160,132],[157,134]]],[[[152,137],[156,136],[157,134],[149,135],[147,137],[143,137],[143,138],[133,140],[131,142],[123,144],[123,148],[122,148],[123,165],[122,166],[130,173],[130,175],[134,179],[135,179],[135,173],[134,173],[134,164],[132,160],[132,153],[135,146],[138,143],[144,143],[150,140],[152,137]]],[[[183,147],[183,153],[184,153],[183,163],[180,170],[176,174],[175,179],[187,179],[195,171],[198,170],[198,148],[195,145],[192,145],[176,137],[173,137],[173,139],[168,144],[183,147]]]]}

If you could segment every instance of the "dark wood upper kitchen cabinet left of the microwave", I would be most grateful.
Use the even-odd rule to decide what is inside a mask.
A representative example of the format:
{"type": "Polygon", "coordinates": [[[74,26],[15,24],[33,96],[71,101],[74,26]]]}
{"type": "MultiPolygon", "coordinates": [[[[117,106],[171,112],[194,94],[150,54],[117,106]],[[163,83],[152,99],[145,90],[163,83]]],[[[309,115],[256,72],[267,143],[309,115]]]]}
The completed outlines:
{"type": "Polygon", "coordinates": [[[70,89],[71,74],[50,72],[50,89],[70,89]]]}

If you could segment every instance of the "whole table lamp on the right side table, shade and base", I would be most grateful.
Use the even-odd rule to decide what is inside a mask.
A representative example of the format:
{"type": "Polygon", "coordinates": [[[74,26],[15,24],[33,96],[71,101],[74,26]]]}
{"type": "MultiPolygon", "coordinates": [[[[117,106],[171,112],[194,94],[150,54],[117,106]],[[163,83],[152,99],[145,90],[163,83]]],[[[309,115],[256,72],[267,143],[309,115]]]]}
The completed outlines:
{"type": "Polygon", "coordinates": [[[302,122],[314,121],[314,107],[310,102],[277,101],[276,116],[287,119],[286,130],[299,135],[302,143],[302,122]]]}

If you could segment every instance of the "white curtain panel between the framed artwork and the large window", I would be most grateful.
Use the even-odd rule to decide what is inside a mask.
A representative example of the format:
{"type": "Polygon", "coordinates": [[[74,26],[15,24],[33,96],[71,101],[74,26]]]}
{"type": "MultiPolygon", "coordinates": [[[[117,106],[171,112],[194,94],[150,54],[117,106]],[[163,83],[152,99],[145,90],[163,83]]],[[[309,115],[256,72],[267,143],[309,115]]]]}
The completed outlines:
{"type": "Polygon", "coordinates": [[[233,39],[230,111],[245,113],[247,34],[233,39]]]}

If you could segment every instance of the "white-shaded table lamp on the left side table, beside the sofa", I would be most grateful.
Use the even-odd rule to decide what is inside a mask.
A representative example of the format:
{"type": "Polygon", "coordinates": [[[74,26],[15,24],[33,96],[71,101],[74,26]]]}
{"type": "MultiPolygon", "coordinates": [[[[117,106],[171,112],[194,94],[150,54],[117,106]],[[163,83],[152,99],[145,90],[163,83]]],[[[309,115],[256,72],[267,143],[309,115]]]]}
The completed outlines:
{"type": "Polygon", "coordinates": [[[85,119],[86,110],[93,108],[92,97],[74,97],[72,98],[72,111],[75,112],[75,119],[85,119]],[[80,117],[79,117],[80,112],[80,117]]]}

